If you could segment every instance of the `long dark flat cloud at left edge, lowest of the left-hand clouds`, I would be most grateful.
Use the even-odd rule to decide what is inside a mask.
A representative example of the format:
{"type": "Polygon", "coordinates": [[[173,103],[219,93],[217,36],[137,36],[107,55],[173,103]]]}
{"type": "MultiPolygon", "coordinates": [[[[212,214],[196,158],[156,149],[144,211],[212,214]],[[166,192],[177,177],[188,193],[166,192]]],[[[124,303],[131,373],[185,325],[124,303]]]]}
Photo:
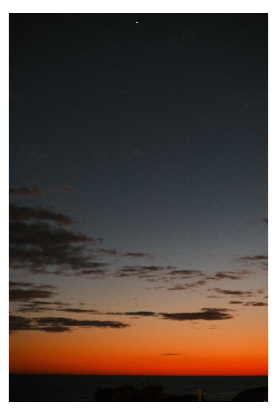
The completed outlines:
{"type": "Polygon", "coordinates": [[[70,332],[72,327],[102,327],[121,329],[130,325],[118,321],[75,320],[64,317],[26,318],[11,315],[9,317],[10,334],[17,330],[39,330],[44,332],[70,332]]]}

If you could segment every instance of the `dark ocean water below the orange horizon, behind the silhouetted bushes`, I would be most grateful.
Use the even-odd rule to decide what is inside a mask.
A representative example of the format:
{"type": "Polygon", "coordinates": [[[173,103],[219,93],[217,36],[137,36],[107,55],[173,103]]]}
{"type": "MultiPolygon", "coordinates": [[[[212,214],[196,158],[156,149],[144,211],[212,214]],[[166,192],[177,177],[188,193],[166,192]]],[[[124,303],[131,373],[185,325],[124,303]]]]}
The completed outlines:
{"type": "Polygon", "coordinates": [[[10,402],[93,402],[97,387],[142,383],[164,386],[166,394],[194,394],[201,388],[210,402],[229,402],[250,388],[268,386],[268,376],[117,376],[10,374],[10,402]]]}

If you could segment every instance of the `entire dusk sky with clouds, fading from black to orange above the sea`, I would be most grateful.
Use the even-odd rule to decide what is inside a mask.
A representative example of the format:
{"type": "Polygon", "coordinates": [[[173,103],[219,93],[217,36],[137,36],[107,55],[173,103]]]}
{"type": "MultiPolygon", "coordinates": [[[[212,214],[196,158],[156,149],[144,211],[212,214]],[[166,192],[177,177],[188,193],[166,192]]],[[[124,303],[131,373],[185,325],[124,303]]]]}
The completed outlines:
{"type": "Polygon", "coordinates": [[[265,375],[267,13],[10,14],[10,372],[265,375]]]}

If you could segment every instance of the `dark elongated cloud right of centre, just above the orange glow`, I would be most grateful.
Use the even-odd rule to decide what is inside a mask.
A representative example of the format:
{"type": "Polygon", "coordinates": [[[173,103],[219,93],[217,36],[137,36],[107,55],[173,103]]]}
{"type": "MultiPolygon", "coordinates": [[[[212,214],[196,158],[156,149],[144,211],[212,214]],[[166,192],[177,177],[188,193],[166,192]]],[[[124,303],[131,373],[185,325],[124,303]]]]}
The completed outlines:
{"type": "Polygon", "coordinates": [[[223,312],[228,309],[202,308],[201,312],[159,313],[166,320],[228,320],[232,315],[223,312]]]}

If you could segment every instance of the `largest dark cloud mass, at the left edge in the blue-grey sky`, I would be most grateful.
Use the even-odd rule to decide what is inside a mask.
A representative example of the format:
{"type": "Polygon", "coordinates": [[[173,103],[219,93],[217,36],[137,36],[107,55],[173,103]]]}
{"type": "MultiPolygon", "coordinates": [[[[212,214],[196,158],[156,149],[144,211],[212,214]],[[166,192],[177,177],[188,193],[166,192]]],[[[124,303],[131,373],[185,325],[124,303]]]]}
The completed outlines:
{"type": "MultiPolygon", "coordinates": [[[[105,266],[93,261],[88,244],[102,243],[81,232],[71,232],[61,225],[70,225],[70,216],[54,213],[50,208],[10,206],[10,267],[28,268],[29,273],[48,272],[66,275],[68,271],[94,270],[105,266]],[[34,220],[36,220],[34,222],[34,220]],[[52,226],[54,221],[59,227],[52,226]]],[[[101,272],[102,270],[100,270],[101,272]]],[[[72,275],[72,274],[71,274],[72,275]]]]}

